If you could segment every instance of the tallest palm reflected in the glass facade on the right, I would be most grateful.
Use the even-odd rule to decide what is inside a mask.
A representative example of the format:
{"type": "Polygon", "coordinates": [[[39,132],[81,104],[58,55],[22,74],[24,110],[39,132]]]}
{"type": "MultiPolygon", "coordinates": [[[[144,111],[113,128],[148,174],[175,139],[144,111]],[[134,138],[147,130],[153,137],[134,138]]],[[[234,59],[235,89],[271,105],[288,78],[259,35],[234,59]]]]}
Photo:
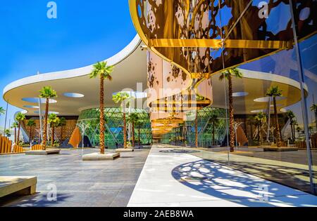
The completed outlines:
{"type": "Polygon", "coordinates": [[[232,76],[242,79],[243,74],[237,68],[227,69],[225,72],[222,72],[219,76],[219,80],[223,79],[228,80],[228,95],[229,95],[229,133],[230,133],[230,152],[235,151],[235,119],[234,119],[234,110],[233,110],[233,90],[232,90],[232,76]]]}

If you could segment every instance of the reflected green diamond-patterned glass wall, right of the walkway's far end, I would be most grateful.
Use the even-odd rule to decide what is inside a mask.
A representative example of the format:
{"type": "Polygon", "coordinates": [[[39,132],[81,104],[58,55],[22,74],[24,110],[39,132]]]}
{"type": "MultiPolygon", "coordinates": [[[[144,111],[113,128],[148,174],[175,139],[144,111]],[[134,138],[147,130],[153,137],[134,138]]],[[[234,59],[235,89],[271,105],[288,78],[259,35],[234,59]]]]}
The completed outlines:
{"type": "MultiPolygon", "coordinates": [[[[193,112],[192,115],[195,115],[193,112]]],[[[197,112],[199,147],[223,145],[226,143],[226,113],[225,109],[206,107],[197,112]],[[216,117],[215,117],[216,116],[216,117]],[[214,130],[213,130],[214,124],[214,130]],[[214,131],[214,140],[213,140],[214,131]]],[[[175,145],[195,145],[195,121],[186,121],[178,128],[163,135],[163,143],[175,145]]]]}

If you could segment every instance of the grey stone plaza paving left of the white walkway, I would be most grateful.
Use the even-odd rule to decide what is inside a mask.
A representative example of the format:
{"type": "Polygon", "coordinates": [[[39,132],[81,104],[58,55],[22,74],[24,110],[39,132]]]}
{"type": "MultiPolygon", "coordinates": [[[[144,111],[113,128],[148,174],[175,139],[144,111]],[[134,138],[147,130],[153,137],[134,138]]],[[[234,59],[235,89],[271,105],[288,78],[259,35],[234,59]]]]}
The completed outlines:
{"type": "Polygon", "coordinates": [[[149,149],[122,153],[115,161],[82,161],[82,154],[98,151],[0,156],[0,175],[37,176],[37,194],[4,197],[0,206],[127,206],[149,149]],[[51,201],[55,187],[57,198],[51,201]]]}

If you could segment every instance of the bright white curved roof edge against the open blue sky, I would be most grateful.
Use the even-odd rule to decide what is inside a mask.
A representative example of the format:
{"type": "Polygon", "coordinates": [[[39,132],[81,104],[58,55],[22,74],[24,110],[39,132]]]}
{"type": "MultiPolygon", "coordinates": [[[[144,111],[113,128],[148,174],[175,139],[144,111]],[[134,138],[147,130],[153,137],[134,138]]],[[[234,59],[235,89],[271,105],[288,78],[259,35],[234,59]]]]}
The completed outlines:
{"type": "MultiPolygon", "coordinates": [[[[131,55],[137,49],[141,42],[142,40],[139,38],[139,35],[137,34],[135,38],[132,39],[132,41],[128,44],[128,46],[125,46],[125,48],[123,48],[123,50],[121,50],[120,52],[116,53],[116,55],[113,55],[111,58],[108,58],[104,61],[108,62],[108,65],[117,65],[118,63],[125,60],[125,58],[127,58],[129,55],[131,55]]],[[[53,81],[58,79],[74,78],[77,76],[85,76],[92,72],[92,68],[92,65],[89,65],[86,67],[80,67],[76,69],[27,76],[23,79],[19,79],[17,81],[9,83],[4,88],[3,97],[8,91],[12,90],[13,88],[18,88],[20,86],[25,86],[31,83],[38,83],[41,81],[53,81]]]]}

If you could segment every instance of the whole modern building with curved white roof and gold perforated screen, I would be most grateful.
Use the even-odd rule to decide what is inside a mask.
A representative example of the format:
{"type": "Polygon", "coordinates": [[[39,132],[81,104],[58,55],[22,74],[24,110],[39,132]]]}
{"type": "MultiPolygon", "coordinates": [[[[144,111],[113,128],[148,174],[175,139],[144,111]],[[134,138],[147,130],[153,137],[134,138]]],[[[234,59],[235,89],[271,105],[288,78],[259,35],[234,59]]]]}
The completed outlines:
{"type": "MultiPolygon", "coordinates": [[[[27,116],[25,142],[27,121],[39,122],[44,112],[39,90],[51,86],[58,97],[50,100],[49,112],[67,121],[56,128],[63,145],[87,123],[89,144],[99,146],[104,111],[108,148],[122,146],[127,130],[139,145],[199,147],[206,150],[203,159],[316,193],[316,1],[129,2],[137,36],[105,59],[115,69],[112,81],[105,81],[104,110],[99,79],[89,79],[92,65],[35,73],[4,88],[4,100],[27,116]],[[238,74],[225,76],[229,70],[238,74]],[[268,95],[274,87],[280,95],[268,95]],[[141,121],[135,131],[130,124],[123,128],[123,108],[112,100],[122,91],[131,95],[128,115],[136,113],[141,121]],[[276,147],[276,122],[282,150],[276,147]],[[235,152],[229,152],[230,130],[235,152]]],[[[37,123],[35,138],[40,131],[37,123]]]]}

